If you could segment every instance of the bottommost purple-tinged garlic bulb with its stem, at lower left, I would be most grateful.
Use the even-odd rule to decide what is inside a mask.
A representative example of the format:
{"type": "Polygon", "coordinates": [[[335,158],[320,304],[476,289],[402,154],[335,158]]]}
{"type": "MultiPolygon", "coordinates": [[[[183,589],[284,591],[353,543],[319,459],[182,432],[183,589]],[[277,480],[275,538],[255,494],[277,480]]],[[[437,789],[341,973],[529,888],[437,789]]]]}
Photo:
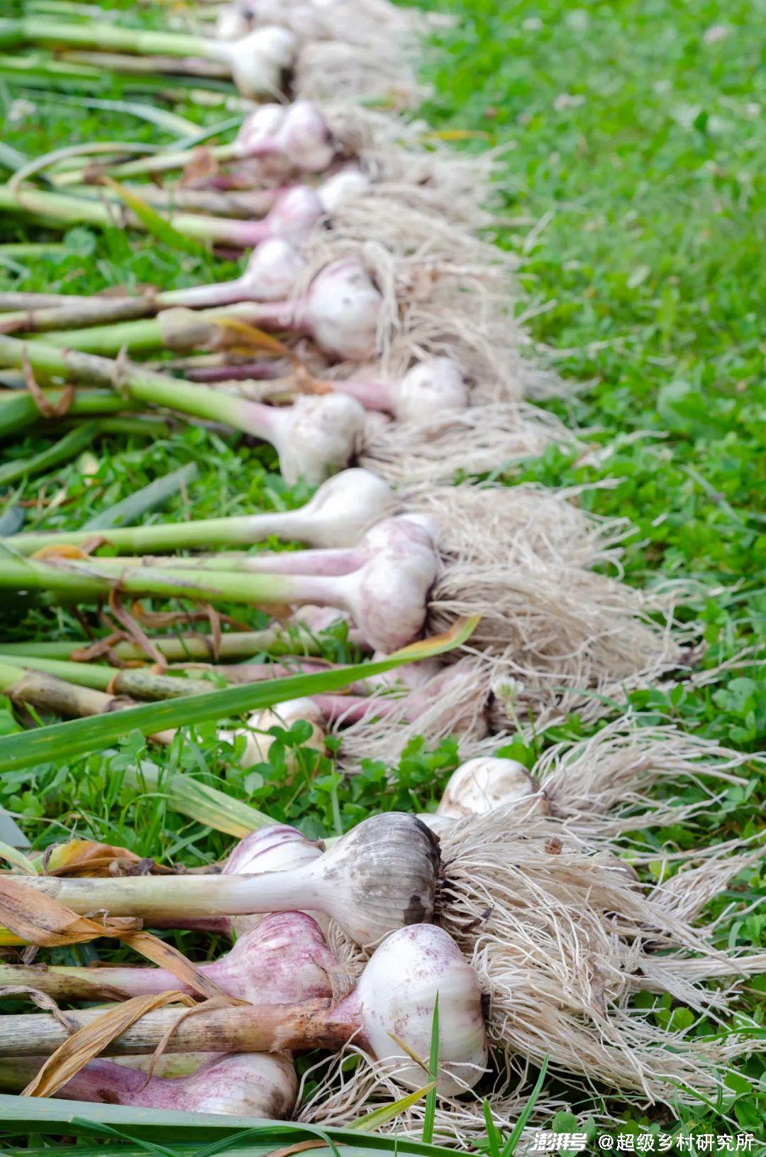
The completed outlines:
{"type": "MultiPolygon", "coordinates": [[[[0,1088],[21,1089],[31,1081],[44,1056],[0,1061],[0,1088]]],[[[116,1064],[89,1061],[54,1097],[104,1105],[170,1108],[185,1113],[225,1113],[284,1120],[298,1092],[292,1061],[283,1053],[216,1055],[180,1077],[151,1076],[116,1064]]]]}

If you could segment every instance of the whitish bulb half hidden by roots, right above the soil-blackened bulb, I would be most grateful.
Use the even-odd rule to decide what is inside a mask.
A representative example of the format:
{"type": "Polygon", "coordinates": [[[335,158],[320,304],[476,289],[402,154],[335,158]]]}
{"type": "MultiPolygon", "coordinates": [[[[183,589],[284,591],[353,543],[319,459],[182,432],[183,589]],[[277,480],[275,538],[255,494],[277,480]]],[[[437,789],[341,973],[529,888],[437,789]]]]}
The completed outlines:
{"type": "Polygon", "coordinates": [[[548,801],[523,764],[481,756],[469,759],[449,778],[437,808],[445,819],[482,816],[518,803],[528,815],[545,815],[548,801]]]}

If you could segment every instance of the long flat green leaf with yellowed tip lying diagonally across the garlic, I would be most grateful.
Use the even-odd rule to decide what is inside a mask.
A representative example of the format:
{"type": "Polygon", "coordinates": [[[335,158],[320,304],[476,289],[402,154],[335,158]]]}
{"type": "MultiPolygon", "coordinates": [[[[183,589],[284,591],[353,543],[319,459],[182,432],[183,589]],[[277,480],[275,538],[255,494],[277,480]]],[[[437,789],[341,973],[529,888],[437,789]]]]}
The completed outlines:
{"type": "Polygon", "coordinates": [[[288,676],[269,679],[267,684],[225,687],[203,695],[184,695],[159,703],[129,707],[122,712],[95,715],[89,718],[53,723],[34,731],[0,737],[0,772],[31,767],[51,758],[68,759],[103,750],[129,731],[151,735],[168,728],[185,727],[240,715],[244,712],[273,707],[287,699],[340,691],[371,675],[393,671],[406,663],[416,663],[433,655],[441,655],[461,646],[470,638],[476,619],[456,624],[446,635],[423,640],[396,651],[380,663],[358,663],[341,670],[320,671],[318,675],[288,676]]]}

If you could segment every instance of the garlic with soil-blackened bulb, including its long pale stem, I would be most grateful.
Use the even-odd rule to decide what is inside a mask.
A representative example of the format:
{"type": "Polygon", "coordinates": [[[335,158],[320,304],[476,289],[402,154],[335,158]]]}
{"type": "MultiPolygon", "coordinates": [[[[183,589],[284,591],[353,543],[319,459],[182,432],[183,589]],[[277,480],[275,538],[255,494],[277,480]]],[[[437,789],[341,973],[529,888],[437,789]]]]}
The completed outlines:
{"type": "Polygon", "coordinates": [[[363,946],[433,920],[441,878],[439,841],[408,812],[371,816],[313,863],[259,876],[35,876],[24,887],[74,912],[109,911],[147,923],[258,912],[325,912],[363,946]]]}

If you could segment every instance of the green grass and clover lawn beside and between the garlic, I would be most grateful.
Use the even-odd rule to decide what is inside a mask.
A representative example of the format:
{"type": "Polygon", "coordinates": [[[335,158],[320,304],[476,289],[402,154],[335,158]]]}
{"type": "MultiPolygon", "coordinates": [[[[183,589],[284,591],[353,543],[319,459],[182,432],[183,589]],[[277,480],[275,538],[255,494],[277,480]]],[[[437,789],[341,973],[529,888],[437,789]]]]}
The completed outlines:
{"type": "MultiPolygon", "coordinates": [[[[552,403],[568,421],[589,430],[598,454],[575,460],[559,452],[529,462],[507,481],[546,485],[617,479],[585,499],[604,515],[629,517],[627,581],[645,585],[693,578],[686,612],[702,624],[706,680],[687,680],[632,697],[633,706],[678,721],[689,730],[756,752],[766,734],[766,679],[757,665],[764,641],[764,280],[766,237],[766,75],[758,71],[761,20],[735,0],[676,2],[617,0],[574,8],[565,0],[439,0],[456,17],[426,59],[433,95],[424,113],[440,130],[474,134],[462,147],[498,143],[504,154],[497,239],[519,255],[529,295],[529,329],[560,373],[583,388],[552,403]]],[[[129,19],[143,19],[131,8],[129,19]]],[[[156,12],[149,17],[157,23],[156,12]]],[[[113,95],[113,94],[112,94],[113,95]]],[[[178,112],[209,124],[225,110],[184,104],[178,112]]],[[[91,138],[168,140],[169,133],[125,113],[42,104],[31,91],[0,81],[3,141],[29,156],[91,138]],[[37,116],[18,100],[37,104],[37,116]]],[[[46,238],[44,230],[3,222],[2,241],[46,238]]],[[[75,228],[64,250],[46,260],[3,256],[0,287],[92,293],[106,285],[151,282],[174,287],[230,277],[235,266],[179,255],[121,231],[75,228]]],[[[3,460],[29,457],[50,439],[20,436],[3,460]]],[[[29,529],[74,526],[187,462],[200,480],[165,510],[177,517],[236,514],[293,506],[305,499],[275,473],[268,448],[178,425],[147,442],[135,435],[99,440],[75,462],[14,485],[29,529]]],[[[10,504],[10,502],[9,502],[10,504]]],[[[240,609],[237,613],[241,617],[240,609]]],[[[247,621],[256,622],[254,616],[247,621]]],[[[10,609],[5,638],[35,638],[76,629],[69,611],[10,609]]],[[[330,657],[351,657],[341,635],[330,657]]],[[[6,730],[15,724],[0,715],[6,730]]],[[[537,746],[582,732],[577,718],[540,736],[537,746]]],[[[247,798],[275,818],[315,835],[348,827],[381,808],[426,810],[456,764],[454,744],[437,752],[417,744],[386,779],[382,765],[343,780],[328,760],[304,750],[303,778],[284,782],[285,746],[300,745],[300,729],[272,749],[272,761],[248,773],[232,767],[230,749],[211,724],[198,742],[177,739],[162,757],[140,736],[114,750],[72,762],[51,759],[12,773],[0,803],[22,817],[36,846],[76,827],[83,835],[125,843],[141,855],[210,861],[229,841],[166,809],[161,795],[139,794],[122,776],[136,761],[184,769],[247,798]]],[[[531,758],[529,750],[514,749],[531,758]]],[[[746,789],[731,788],[694,831],[676,827],[659,839],[687,846],[749,835],[759,827],[763,779],[751,765],[746,789]]],[[[763,897],[751,878],[713,905],[763,897]]],[[[742,907],[742,905],[739,905],[742,907]]],[[[726,941],[763,943],[766,916],[732,914],[726,941]]],[[[179,943],[184,943],[181,938],[179,943]]],[[[188,943],[188,941],[186,941],[188,943]]],[[[60,950],[61,963],[90,950],[60,950]]],[[[760,1023],[756,981],[743,1010],[760,1023]]],[[[687,1014],[668,1002],[655,1012],[681,1024],[687,1014]]],[[[731,1026],[732,1029],[736,1025],[731,1026]]],[[[672,1129],[681,1134],[750,1130],[766,1115],[766,1071],[753,1057],[734,1075],[717,1110],[678,1111],[676,1119],[637,1118],[624,1110],[624,1133],[672,1129]]],[[[563,1091],[566,1096],[566,1090],[563,1091]]],[[[572,1104],[553,1127],[587,1126],[600,1100],[572,1104]],[[573,1123],[575,1122],[575,1123],[573,1123]]],[[[592,1132],[592,1130],[590,1130],[592,1132]]],[[[490,1138],[488,1138],[490,1145],[490,1138]]],[[[491,1147],[491,1145],[490,1145],[491,1147]]]]}

